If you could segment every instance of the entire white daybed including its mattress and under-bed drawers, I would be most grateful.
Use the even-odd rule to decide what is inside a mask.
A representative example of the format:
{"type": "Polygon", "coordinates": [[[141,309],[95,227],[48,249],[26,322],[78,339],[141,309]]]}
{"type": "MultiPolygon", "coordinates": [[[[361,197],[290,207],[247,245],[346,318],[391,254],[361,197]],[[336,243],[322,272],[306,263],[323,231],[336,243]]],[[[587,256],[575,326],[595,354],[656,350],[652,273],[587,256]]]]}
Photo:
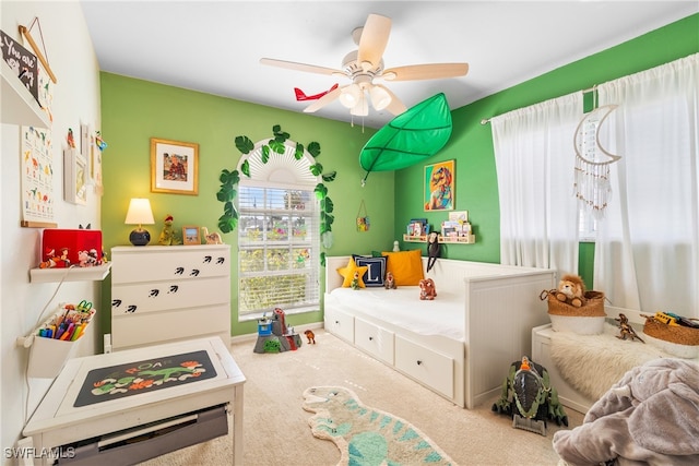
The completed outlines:
{"type": "Polygon", "coordinates": [[[532,328],[548,322],[538,296],[555,286],[553,270],[439,259],[426,273],[419,258],[436,284],[429,301],[400,283],[346,287],[337,270],[350,259],[327,258],[325,330],[461,407],[496,395],[512,361],[529,355],[532,328]]]}

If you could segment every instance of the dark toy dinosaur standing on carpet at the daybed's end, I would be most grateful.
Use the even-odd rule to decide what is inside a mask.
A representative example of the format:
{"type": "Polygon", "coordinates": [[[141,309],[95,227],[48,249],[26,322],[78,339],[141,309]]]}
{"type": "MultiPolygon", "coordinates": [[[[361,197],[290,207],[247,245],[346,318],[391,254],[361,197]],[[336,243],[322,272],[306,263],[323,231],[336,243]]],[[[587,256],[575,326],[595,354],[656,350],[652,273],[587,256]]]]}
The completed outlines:
{"type": "Polygon", "coordinates": [[[512,416],[512,427],[546,435],[546,420],[568,426],[568,416],[550,386],[548,371],[526,356],[512,362],[493,410],[512,416]]]}

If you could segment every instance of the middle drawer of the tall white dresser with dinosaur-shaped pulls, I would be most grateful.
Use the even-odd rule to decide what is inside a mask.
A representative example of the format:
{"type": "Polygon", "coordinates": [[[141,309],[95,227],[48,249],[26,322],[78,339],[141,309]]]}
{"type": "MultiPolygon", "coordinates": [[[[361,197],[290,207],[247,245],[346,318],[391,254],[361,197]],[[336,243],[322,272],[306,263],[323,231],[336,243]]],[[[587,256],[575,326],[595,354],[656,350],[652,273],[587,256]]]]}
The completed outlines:
{"type": "Polygon", "coordinates": [[[229,277],[111,285],[112,315],[197,308],[229,301],[229,277]]]}

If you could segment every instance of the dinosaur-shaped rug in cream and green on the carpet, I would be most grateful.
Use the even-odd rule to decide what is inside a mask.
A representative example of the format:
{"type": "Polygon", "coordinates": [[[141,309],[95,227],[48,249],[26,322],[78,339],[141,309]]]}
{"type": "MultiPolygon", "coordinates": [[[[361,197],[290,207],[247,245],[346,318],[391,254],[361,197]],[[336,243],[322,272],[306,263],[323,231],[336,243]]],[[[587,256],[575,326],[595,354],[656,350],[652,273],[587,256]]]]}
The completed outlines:
{"type": "Polygon", "coordinates": [[[311,386],[304,409],[318,439],[340,449],[339,465],[452,465],[453,461],[427,435],[404,419],[362,404],[341,386],[311,386]]]}

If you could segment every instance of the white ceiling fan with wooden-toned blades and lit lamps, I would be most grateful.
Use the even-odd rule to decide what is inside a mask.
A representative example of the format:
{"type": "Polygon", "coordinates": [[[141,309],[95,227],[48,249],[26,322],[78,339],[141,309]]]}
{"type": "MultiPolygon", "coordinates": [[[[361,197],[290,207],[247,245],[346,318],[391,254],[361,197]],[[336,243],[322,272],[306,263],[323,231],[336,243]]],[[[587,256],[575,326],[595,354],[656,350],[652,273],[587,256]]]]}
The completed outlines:
{"type": "Polygon", "coordinates": [[[369,115],[369,100],[376,110],[388,110],[400,115],[406,110],[405,105],[382,84],[375,84],[375,79],[384,81],[438,80],[463,76],[469,72],[469,63],[428,63],[405,67],[383,68],[383,50],[391,33],[391,19],[380,14],[369,14],[364,27],[357,27],[352,38],[359,46],[342,60],[342,69],[317,67],[293,61],[262,58],[260,63],[309,73],[328,74],[352,80],[351,84],[331,89],[318,100],[304,109],[305,112],[317,111],[339,99],[354,116],[369,115]]]}

